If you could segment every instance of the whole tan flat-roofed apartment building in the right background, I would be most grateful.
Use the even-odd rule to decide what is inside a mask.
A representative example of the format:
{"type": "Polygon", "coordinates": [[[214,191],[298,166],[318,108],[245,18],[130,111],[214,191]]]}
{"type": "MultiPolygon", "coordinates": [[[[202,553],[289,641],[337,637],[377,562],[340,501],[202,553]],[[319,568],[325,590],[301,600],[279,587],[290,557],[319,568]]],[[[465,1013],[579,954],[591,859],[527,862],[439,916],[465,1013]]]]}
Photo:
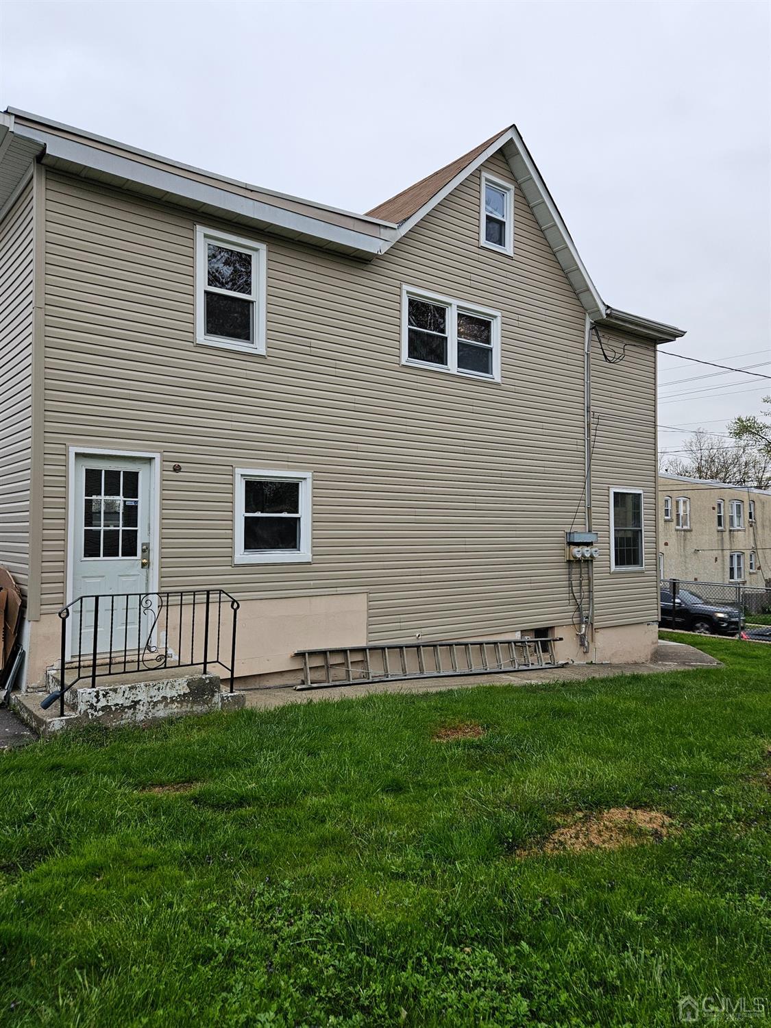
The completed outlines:
{"type": "Polygon", "coordinates": [[[771,582],[771,492],[659,475],[659,572],[692,582],[771,582]]]}

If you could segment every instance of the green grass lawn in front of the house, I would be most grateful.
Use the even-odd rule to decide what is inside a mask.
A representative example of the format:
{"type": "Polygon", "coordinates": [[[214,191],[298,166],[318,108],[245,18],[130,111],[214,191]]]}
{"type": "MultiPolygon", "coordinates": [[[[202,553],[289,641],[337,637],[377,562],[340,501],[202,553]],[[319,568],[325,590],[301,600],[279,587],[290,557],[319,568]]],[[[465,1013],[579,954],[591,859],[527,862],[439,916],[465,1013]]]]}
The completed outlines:
{"type": "Polygon", "coordinates": [[[725,668],[4,752],[0,1023],[652,1028],[769,996],[771,650],[685,638],[725,668]],[[432,741],[458,722],[486,734],[432,741]],[[518,855],[624,806],[678,830],[518,855]]]}

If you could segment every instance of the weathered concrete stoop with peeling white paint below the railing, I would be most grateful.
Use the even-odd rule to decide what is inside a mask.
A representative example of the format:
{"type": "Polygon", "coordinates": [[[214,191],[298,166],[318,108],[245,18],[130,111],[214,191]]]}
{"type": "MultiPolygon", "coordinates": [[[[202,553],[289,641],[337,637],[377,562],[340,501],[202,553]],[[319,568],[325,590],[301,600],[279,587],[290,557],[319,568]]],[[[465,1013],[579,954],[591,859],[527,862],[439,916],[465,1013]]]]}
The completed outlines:
{"type": "Polygon", "coordinates": [[[219,675],[198,673],[146,682],[123,681],[94,689],[74,686],[65,695],[68,712],[63,718],[58,702],[47,710],[41,708],[40,701],[46,695],[26,692],[11,696],[12,708],[40,735],[94,724],[105,728],[144,725],[163,718],[240,710],[245,705],[243,693],[222,691],[219,675]]]}

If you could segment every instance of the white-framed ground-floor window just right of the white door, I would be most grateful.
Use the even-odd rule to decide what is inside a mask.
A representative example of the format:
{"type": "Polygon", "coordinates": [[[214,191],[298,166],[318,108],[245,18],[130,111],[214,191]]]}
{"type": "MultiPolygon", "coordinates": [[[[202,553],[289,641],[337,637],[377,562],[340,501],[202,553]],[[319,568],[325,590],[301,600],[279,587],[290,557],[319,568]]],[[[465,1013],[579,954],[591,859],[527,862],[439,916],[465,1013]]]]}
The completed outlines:
{"type": "Polygon", "coordinates": [[[235,469],[233,563],[310,560],[309,471],[235,469]]]}

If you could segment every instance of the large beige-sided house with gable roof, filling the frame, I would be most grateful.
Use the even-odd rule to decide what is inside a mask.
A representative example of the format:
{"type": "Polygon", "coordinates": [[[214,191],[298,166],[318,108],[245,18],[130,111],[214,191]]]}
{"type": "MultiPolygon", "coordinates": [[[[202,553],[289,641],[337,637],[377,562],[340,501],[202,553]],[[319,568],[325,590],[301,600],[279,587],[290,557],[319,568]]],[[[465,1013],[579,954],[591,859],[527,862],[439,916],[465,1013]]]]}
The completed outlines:
{"type": "Polygon", "coordinates": [[[0,188],[28,682],[64,602],[209,587],[244,675],[535,628],[650,656],[656,344],[683,332],[601,300],[515,127],[358,215],[9,110],[0,188]]]}

